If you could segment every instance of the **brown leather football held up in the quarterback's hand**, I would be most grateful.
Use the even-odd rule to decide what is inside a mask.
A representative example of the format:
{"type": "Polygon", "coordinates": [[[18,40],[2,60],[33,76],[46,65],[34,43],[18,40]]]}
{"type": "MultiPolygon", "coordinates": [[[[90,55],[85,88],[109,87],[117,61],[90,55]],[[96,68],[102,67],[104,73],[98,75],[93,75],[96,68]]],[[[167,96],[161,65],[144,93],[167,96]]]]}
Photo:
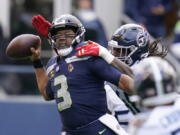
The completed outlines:
{"type": "Polygon", "coordinates": [[[32,55],[30,48],[38,48],[41,39],[37,35],[22,34],[10,41],[6,48],[6,55],[14,59],[27,58],[32,55]]]}

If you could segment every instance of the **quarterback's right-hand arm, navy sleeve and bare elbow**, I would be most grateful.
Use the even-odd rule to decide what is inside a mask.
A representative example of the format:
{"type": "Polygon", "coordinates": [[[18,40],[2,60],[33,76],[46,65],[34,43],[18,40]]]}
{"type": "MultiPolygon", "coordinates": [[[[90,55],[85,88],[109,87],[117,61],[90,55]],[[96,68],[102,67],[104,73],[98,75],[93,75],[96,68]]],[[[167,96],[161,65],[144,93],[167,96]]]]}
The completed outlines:
{"type": "Polygon", "coordinates": [[[90,61],[90,64],[93,64],[93,66],[89,66],[92,73],[100,79],[118,86],[126,93],[134,93],[134,80],[130,76],[119,72],[101,58],[93,58],[92,61],[90,61]]]}

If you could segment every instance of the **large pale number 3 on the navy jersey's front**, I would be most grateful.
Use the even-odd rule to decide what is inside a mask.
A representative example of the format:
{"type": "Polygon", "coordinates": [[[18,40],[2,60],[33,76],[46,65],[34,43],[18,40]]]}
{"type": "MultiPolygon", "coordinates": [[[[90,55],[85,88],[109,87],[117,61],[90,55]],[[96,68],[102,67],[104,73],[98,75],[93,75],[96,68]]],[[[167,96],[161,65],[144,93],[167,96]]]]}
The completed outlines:
{"type": "Polygon", "coordinates": [[[61,88],[57,90],[57,98],[62,98],[63,101],[58,103],[58,110],[63,111],[70,108],[72,105],[71,95],[68,91],[67,78],[60,75],[54,79],[54,86],[60,85],[61,88]]]}

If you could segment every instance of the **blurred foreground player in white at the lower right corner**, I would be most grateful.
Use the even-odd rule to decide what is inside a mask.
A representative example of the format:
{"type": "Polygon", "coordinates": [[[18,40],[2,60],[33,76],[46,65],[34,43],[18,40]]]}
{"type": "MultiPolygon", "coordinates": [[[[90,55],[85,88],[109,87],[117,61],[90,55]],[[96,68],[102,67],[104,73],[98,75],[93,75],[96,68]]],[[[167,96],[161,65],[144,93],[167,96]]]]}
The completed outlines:
{"type": "Polygon", "coordinates": [[[144,110],[130,123],[131,135],[179,135],[180,106],[177,76],[170,63],[160,57],[142,60],[135,68],[135,90],[144,110]]]}

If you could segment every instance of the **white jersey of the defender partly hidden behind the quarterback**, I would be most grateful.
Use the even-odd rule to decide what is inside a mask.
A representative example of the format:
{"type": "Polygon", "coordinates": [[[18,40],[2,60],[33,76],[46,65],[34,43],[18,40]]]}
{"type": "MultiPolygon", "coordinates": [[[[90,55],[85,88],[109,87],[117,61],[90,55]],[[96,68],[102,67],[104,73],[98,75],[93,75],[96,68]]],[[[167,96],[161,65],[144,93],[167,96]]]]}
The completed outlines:
{"type": "MultiPolygon", "coordinates": [[[[131,69],[133,70],[138,63],[139,61],[133,64],[133,66],[131,66],[131,69]]],[[[126,104],[128,104],[133,112],[137,113],[137,110],[130,103],[126,102],[125,104],[122,101],[122,99],[124,99],[124,101],[126,100],[123,94],[120,95],[122,99],[117,96],[115,91],[117,91],[118,89],[119,88],[113,84],[110,85],[108,83],[105,83],[108,109],[117,118],[119,124],[127,131],[129,122],[134,119],[134,114],[126,106],[126,104]]]]}

